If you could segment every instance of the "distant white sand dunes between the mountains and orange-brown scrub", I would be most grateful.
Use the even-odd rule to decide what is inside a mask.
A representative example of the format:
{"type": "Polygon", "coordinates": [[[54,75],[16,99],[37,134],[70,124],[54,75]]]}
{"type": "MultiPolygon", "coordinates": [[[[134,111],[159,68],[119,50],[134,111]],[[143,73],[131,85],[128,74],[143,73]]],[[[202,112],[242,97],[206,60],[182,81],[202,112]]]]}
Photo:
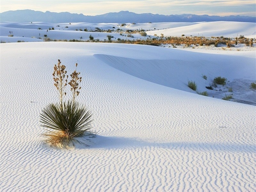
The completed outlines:
{"type": "Polygon", "coordinates": [[[236,37],[244,35],[247,38],[256,37],[255,23],[249,22],[233,22],[233,21],[215,21],[215,22],[164,22],[164,23],[127,23],[122,26],[119,23],[45,23],[45,22],[33,22],[33,23],[19,23],[19,22],[0,22],[0,40],[4,42],[17,42],[17,41],[43,41],[44,35],[47,38],[56,40],[89,40],[89,36],[92,35],[94,39],[101,41],[108,40],[107,35],[113,36],[112,40],[120,39],[147,39],[154,37],[154,35],[161,36],[224,36],[224,37],[236,37]],[[47,30],[49,28],[55,30],[47,30]],[[41,29],[38,29],[41,28],[41,29]],[[88,32],[85,32],[84,29],[88,32]],[[95,28],[102,30],[114,30],[112,33],[106,32],[92,32],[95,28]],[[148,36],[141,36],[139,33],[132,34],[133,37],[128,37],[127,34],[120,36],[122,31],[116,31],[117,29],[126,30],[147,30],[148,36]],[[80,30],[81,29],[81,30],[80,30]],[[150,30],[150,31],[148,31],[150,30]],[[9,32],[12,32],[13,38],[8,37],[9,32]],[[29,38],[29,39],[28,39],[29,38]],[[40,39],[41,38],[41,39],[40,39]]]}

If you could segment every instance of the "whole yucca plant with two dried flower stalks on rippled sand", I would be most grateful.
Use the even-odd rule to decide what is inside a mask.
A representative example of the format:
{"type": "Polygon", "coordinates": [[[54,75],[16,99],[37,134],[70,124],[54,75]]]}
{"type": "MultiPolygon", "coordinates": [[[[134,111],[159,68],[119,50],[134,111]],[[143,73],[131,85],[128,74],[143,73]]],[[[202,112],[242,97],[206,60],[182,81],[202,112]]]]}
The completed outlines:
{"type": "Polygon", "coordinates": [[[66,74],[66,67],[58,60],[58,64],[54,65],[52,76],[54,86],[59,92],[60,102],[47,105],[40,114],[41,126],[46,128],[47,131],[43,133],[44,141],[49,143],[50,146],[60,148],[67,148],[70,143],[74,146],[74,141],[79,142],[75,139],[76,137],[92,135],[92,132],[90,132],[92,114],[85,105],[76,101],[76,97],[80,93],[78,90],[81,89],[79,86],[82,81],[82,77],[79,77],[80,72],[75,69],[70,75],[69,83],[66,74]],[[63,97],[66,95],[65,88],[68,84],[70,85],[72,100],[63,101],[63,97]]]}

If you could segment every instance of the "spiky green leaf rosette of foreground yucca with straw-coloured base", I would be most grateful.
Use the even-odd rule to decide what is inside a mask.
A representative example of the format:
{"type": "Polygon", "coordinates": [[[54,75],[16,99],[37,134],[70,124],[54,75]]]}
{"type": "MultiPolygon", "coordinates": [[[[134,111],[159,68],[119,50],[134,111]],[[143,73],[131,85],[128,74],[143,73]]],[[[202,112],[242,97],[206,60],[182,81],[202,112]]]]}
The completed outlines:
{"type": "Polygon", "coordinates": [[[78,102],[64,101],[51,103],[42,109],[41,126],[48,132],[43,136],[51,146],[67,147],[74,137],[90,134],[92,114],[85,105],[78,102]],[[50,130],[49,130],[50,129],[50,130]]]}

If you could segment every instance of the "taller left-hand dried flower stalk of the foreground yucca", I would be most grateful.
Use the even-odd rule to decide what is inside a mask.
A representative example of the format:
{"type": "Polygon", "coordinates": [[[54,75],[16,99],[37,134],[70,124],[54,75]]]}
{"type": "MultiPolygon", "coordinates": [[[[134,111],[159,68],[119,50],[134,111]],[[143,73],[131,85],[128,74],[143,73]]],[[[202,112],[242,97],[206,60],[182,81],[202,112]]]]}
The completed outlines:
{"type": "Polygon", "coordinates": [[[66,95],[65,87],[67,86],[68,75],[66,75],[67,71],[65,70],[65,65],[61,65],[60,60],[58,59],[58,64],[53,67],[53,80],[54,86],[57,88],[59,92],[60,104],[62,106],[62,98],[66,95]]]}

